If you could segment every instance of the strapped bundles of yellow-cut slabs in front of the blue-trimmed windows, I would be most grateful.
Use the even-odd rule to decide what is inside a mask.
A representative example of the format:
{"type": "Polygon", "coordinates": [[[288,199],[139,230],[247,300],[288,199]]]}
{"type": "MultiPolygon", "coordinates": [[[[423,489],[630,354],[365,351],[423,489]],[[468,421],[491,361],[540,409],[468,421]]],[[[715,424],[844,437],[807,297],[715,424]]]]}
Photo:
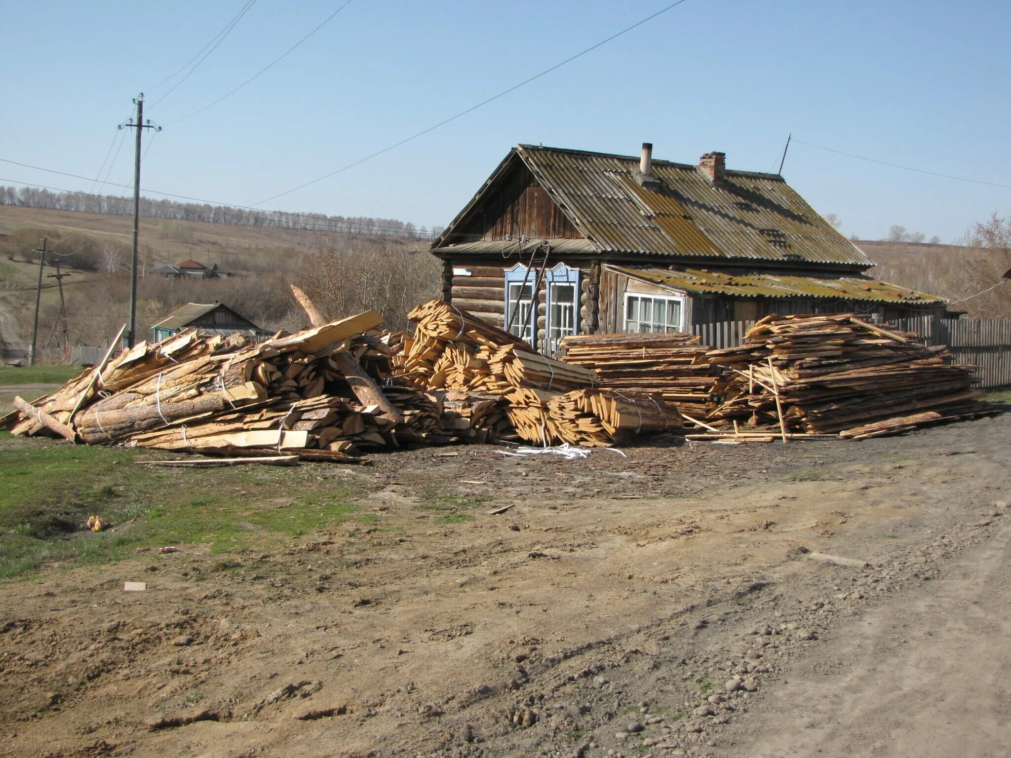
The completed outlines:
{"type": "Polygon", "coordinates": [[[490,416],[461,415],[453,424],[458,431],[467,418],[484,424],[472,428],[475,439],[600,447],[681,425],[677,410],[661,395],[594,390],[601,384],[594,371],[546,358],[450,303],[434,300],[407,316],[416,324],[415,337],[404,340],[394,373],[420,389],[451,390],[454,402],[482,413],[493,409],[490,416]]]}

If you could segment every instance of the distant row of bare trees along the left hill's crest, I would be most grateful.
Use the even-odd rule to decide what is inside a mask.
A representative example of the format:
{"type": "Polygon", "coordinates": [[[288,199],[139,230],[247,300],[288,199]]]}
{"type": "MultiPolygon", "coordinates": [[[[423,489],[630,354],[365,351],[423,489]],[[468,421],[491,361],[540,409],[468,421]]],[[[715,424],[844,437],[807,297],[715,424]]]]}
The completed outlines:
{"type": "MultiPolygon", "coordinates": [[[[127,216],[133,213],[133,200],[116,195],[95,195],[88,192],[51,192],[35,187],[0,185],[0,205],[20,205],[27,208],[72,210],[83,213],[103,213],[127,216]]],[[[429,239],[442,231],[418,228],[410,221],[396,218],[367,216],[328,216],[325,213],[283,213],[277,210],[249,210],[231,205],[153,200],[141,198],[141,215],[181,221],[231,223],[236,226],[265,226],[279,229],[300,229],[346,234],[370,234],[429,239]]]]}

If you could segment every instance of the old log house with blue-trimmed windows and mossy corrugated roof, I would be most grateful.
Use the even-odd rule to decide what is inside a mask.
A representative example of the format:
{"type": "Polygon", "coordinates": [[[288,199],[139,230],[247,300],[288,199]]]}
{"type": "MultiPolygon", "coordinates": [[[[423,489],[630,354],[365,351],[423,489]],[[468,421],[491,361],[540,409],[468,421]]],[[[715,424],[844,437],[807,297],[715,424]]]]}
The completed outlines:
{"type": "Polygon", "coordinates": [[[893,318],[944,300],[874,264],[777,174],[520,145],[432,246],[443,297],[554,353],[567,335],[767,313],[893,318]],[[534,303],[537,303],[536,308],[534,303]]]}

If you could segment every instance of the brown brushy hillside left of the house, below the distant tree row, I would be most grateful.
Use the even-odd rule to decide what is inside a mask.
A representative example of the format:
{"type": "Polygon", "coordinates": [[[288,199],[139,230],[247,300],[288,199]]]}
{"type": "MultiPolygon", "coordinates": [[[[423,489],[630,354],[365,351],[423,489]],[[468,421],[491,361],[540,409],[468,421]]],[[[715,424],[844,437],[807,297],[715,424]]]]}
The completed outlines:
{"type": "MultiPolygon", "coordinates": [[[[67,210],[0,205],[0,349],[6,360],[26,355],[31,338],[38,254],[47,234],[70,271],[64,288],[71,345],[102,345],[128,318],[132,218],[67,210]]],[[[402,315],[402,304],[424,302],[438,292],[438,270],[424,240],[383,234],[330,233],[270,226],[141,218],[139,338],[186,302],[228,304],[268,328],[301,325],[288,284],[297,282],[334,316],[374,307],[402,315]],[[326,255],[319,255],[326,254],[326,255]],[[147,272],[194,259],[227,274],[216,280],[176,280],[147,272]],[[391,272],[380,290],[368,275],[391,272]],[[396,306],[389,306],[395,302],[396,306]],[[289,312],[290,311],[290,312],[289,312]]],[[[50,257],[48,264],[56,259],[50,257]]],[[[47,265],[45,275],[55,273],[47,265]]],[[[43,278],[38,326],[41,355],[58,361],[55,329],[59,292],[43,278]],[[51,338],[51,333],[54,337],[51,338]]],[[[399,325],[392,323],[392,325],[399,325]]]]}

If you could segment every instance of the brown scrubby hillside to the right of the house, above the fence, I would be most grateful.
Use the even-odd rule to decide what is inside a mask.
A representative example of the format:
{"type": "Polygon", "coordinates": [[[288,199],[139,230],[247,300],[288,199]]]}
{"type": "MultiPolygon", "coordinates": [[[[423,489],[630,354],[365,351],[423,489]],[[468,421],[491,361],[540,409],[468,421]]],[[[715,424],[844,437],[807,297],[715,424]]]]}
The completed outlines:
{"type": "MultiPolygon", "coordinates": [[[[959,300],[1001,281],[1011,267],[1011,251],[927,243],[890,243],[860,240],[856,247],[877,265],[867,273],[876,279],[920,292],[959,300]]],[[[1011,315],[1011,287],[957,303],[972,317],[1011,315]]]]}

